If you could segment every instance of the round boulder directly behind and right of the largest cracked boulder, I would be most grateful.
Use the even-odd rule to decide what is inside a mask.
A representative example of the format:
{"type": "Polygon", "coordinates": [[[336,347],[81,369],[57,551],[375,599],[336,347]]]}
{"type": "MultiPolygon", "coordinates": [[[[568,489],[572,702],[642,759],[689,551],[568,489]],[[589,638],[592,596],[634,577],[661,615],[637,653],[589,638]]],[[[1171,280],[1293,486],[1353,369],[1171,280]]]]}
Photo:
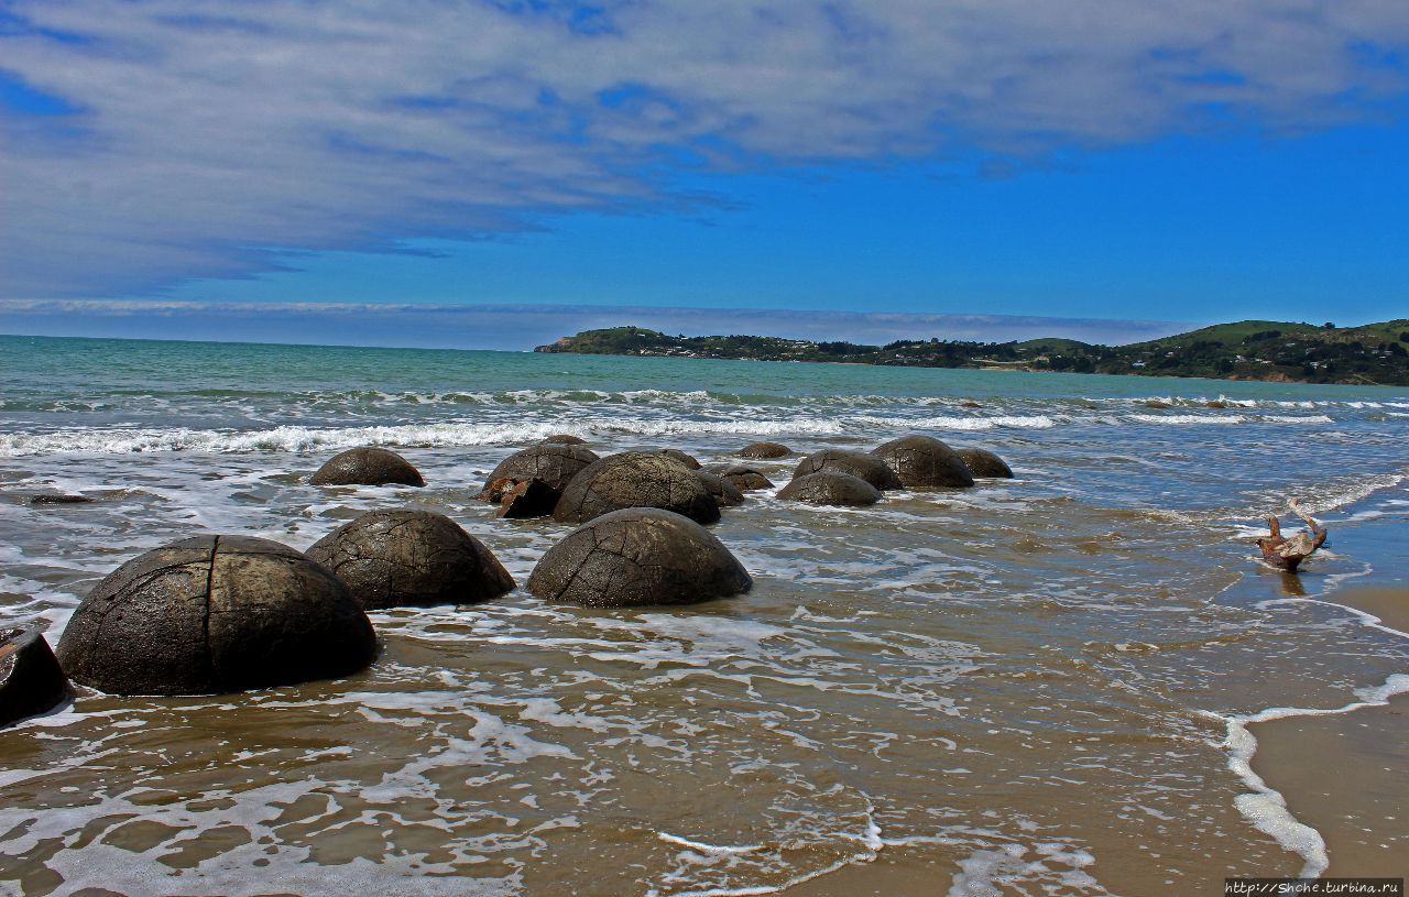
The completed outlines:
{"type": "Polygon", "coordinates": [[[475,604],[514,580],[485,544],[444,514],[369,511],[309,549],[365,610],[475,604]]]}

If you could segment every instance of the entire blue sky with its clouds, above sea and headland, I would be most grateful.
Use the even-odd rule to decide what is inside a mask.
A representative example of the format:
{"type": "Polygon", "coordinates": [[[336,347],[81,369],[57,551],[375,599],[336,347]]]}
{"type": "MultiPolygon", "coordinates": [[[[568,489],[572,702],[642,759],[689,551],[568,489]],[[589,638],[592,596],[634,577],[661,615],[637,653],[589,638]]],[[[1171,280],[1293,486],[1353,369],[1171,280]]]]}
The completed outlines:
{"type": "Polygon", "coordinates": [[[1405,317],[1406,59],[1398,0],[0,1],[0,330],[1405,317]]]}

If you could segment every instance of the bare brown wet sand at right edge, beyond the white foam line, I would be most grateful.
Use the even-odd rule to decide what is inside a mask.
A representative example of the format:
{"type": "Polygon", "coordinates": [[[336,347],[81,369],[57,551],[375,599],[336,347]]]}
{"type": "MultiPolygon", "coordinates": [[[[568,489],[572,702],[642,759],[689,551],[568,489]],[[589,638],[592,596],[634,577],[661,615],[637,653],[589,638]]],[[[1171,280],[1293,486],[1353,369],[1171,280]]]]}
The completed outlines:
{"type": "MultiPolygon", "coordinates": [[[[1360,587],[1330,600],[1409,632],[1406,587],[1360,587]]],[[[1327,876],[1409,876],[1409,694],[1248,728],[1258,742],[1253,769],[1326,839],[1327,876]]]]}

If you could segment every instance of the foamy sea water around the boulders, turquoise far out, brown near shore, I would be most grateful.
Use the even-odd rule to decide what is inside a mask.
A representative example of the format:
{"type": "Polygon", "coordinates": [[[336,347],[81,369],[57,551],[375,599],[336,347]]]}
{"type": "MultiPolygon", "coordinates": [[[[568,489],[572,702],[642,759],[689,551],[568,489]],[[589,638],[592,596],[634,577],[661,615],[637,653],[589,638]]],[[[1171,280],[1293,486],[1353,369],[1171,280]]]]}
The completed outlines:
{"type": "Polygon", "coordinates": [[[1246,724],[1409,687],[1409,638],[1336,603],[1409,580],[1409,390],[1095,375],[0,337],[0,625],[56,641],[165,542],[304,549],[393,506],[523,584],[569,528],[475,494],[555,432],[704,463],[920,432],[1017,476],[752,493],[713,527],[755,580],[730,600],[520,589],[373,614],[342,680],[79,689],[0,732],[0,894],[826,893],[902,849],[916,894],[1222,893],[1327,862],[1246,724]],[[427,486],[309,484],[366,444],[427,486]],[[1251,545],[1291,496],[1330,527],[1301,576],[1251,545]]]}

